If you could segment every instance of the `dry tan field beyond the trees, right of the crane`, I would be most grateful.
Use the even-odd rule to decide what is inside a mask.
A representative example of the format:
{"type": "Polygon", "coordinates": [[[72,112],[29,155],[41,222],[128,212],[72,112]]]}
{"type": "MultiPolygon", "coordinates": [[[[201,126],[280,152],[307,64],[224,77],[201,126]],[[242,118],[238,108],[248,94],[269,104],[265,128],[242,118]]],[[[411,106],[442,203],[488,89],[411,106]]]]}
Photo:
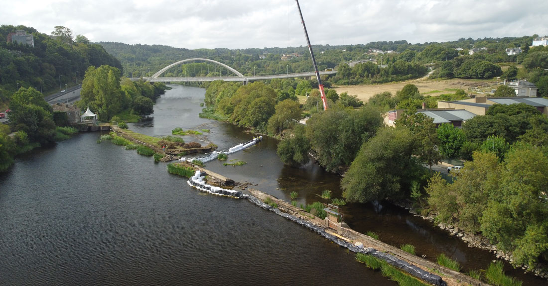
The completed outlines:
{"type": "Polygon", "coordinates": [[[473,87],[481,86],[487,89],[489,86],[495,85],[497,80],[472,80],[472,79],[414,79],[402,81],[399,83],[389,84],[368,84],[368,85],[344,85],[333,86],[337,94],[348,92],[349,95],[357,95],[360,100],[367,102],[369,97],[381,92],[390,91],[392,95],[396,95],[396,91],[401,90],[406,84],[414,84],[419,88],[419,92],[423,95],[441,95],[454,93],[454,89],[464,89],[467,92],[472,92],[473,87]]]}

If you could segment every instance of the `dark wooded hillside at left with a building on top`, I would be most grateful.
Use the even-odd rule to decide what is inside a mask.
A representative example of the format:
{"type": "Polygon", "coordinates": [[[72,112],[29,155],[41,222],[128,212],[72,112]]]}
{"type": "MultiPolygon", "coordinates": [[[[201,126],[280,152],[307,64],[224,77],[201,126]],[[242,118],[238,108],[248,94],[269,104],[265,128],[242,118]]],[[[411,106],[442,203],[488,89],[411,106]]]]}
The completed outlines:
{"type": "Polygon", "coordinates": [[[44,94],[82,81],[89,66],[110,65],[122,68],[120,61],[101,45],[90,43],[65,27],[55,27],[53,36],[26,26],[0,26],[0,106],[4,106],[18,87],[36,87],[44,94]],[[8,34],[32,34],[34,46],[7,42],[8,34]]]}

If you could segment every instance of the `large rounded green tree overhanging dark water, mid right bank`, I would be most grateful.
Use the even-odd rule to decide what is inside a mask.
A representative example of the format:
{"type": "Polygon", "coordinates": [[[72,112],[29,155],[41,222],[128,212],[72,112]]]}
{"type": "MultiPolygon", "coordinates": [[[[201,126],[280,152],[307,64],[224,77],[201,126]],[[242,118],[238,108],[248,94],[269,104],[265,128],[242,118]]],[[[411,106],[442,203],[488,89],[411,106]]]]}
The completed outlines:
{"type": "Polygon", "coordinates": [[[415,148],[415,139],[406,127],[379,129],[362,145],[341,180],[345,199],[368,202],[404,197],[420,173],[420,164],[412,156],[415,148]]]}

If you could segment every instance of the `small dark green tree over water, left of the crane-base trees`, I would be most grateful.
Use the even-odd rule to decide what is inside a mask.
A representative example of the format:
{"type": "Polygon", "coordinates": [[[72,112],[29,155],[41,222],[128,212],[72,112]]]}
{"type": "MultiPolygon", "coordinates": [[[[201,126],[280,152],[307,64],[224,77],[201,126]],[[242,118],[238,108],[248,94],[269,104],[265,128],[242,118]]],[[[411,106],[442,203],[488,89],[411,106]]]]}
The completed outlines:
{"type": "Polygon", "coordinates": [[[309,162],[310,142],[305,136],[304,126],[297,125],[293,134],[278,143],[278,156],[284,163],[300,166],[309,162]]]}

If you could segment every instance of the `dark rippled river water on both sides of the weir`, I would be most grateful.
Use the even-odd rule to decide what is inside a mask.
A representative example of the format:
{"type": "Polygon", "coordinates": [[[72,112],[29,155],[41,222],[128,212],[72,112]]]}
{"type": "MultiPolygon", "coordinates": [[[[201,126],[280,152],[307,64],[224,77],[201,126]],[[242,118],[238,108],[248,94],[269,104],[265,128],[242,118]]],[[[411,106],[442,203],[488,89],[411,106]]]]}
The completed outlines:
{"type": "MultiPolygon", "coordinates": [[[[198,118],[204,90],[174,85],[155,105],[154,118],[130,129],[166,136],[175,127],[209,129],[186,142],[213,142],[219,150],[252,134],[198,118]]],[[[355,261],[354,255],[315,233],[246,200],[204,195],[171,175],[166,164],[82,133],[55,147],[19,157],[0,174],[0,284],[179,285],[396,285],[355,261]]],[[[247,165],[207,168],[299,204],[322,201],[340,179],[316,164],[284,166],[277,141],[229,155],[247,165]]],[[[419,255],[446,253],[467,269],[486,269],[494,256],[471,249],[406,210],[387,203],[349,204],[347,223],[375,231],[395,246],[413,244],[419,255]]],[[[510,267],[507,267],[509,270],[510,267]]],[[[546,281],[512,271],[523,285],[546,281]]]]}

